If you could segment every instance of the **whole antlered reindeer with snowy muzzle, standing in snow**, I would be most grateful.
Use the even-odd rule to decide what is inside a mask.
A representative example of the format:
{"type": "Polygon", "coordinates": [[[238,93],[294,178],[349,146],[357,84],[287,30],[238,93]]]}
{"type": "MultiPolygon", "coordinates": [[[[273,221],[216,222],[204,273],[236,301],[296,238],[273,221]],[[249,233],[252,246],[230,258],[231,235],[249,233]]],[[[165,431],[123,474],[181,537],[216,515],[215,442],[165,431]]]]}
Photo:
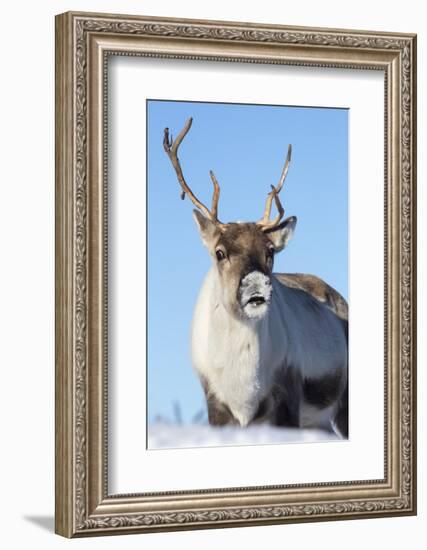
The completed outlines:
{"type": "Polygon", "coordinates": [[[348,308],[344,298],[314,275],[273,273],[274,257],[297,222],[282,221],[279,199],[291,160],[271,186],[256,223],[218,219],[220,186],[209,210],[187,185],[178,149],[189,118],[163,146],[213,265],[200,290],[191,329],[193,366],[203,386],[211,425],[268,422],[320,428],[348,437],[348,308]],[[272,203],[278,214],[270,219],[272,203]]]}

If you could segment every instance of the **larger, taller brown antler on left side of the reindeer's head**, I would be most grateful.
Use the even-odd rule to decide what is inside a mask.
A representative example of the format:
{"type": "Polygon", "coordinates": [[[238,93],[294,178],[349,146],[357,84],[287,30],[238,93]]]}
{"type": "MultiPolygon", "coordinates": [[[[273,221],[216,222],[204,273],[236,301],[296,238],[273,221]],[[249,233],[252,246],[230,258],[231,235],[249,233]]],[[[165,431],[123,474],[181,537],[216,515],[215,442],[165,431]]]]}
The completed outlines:
{"type": "Polygon", "coordinates": [[[218,201],[219,201],[220,187],[215,177],[215,174],[212,172],[212,170],[209,172],[209,174],[214,187],[214,192],[212,196],[212,207],[210,210],[201,201],[199,201],[199,199],[194,195],[190,187],[187,185],[184,178],[184,174],[182,173],[181,164],[178,158],[178,148],[181,145],[182,140],[185,138],[188,131],[190,130],[192,122],[193,122],[193,119],[190,117],[187,120],[187,122],[184,124],[183,129],[180,131],[180,133],[177,135],[177,137],[174,140],[172,139],[172,136],[169,137],[169,128],[165,128],[164,137],[163,137],[163,148],[166,151],[166,154],[168,155],[172,163],[172,166],[175,168],[175,172],[176,172],[179,184],[181,185],[181,188],[182,188],[181,199],[184,200],[185,194],[187,193],[187,195],[189,196],[194,206],[196,206],[199,210],[201,210],[207,218],[209,218],[216,225],[218,225],[218,227],[224,227],[226,224],[223,224],[218,220],[218,201]]]}

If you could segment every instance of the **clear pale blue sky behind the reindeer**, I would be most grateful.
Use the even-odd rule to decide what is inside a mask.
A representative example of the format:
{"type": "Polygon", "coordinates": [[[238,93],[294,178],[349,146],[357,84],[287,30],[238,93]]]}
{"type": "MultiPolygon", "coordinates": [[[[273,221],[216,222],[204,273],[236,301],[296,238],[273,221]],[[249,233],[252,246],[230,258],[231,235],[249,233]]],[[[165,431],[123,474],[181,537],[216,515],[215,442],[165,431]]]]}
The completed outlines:
{"type": "Polygon", "coordinates": [[[193,204],[163,150],[163,130],[193,125],[179,158],[187,183],[210,206],[213,170],[221,221],[262,217],[270,185],[292,143],[281,201],[298,218],[277,272],[311,273],[348,297],[348,111],[175,101],[147,102],[148,120],[148,419],[191,422],[205,408],[191,367],[190,325],[211,265],[192,218],[193,204]],[[176,405],[178,404],[178,406],[176,405]],[[175,410],[175,412],[174,412],[175,410]]]}

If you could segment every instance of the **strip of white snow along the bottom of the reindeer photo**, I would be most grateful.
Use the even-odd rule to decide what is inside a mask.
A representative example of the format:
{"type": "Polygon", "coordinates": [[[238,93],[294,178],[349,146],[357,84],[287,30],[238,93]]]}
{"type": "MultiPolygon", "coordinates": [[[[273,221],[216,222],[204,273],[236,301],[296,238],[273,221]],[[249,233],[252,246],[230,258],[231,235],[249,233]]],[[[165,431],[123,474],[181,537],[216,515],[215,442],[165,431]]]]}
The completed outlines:
{"type": "Polygon", "coordinates": [[[337,439],[335,434],[323,430],[276,428],[266,424],[248,426],[247,428],[166,423],[154,423],[148,426],[149,449],[313,443],[336,441],[337,439]]]}

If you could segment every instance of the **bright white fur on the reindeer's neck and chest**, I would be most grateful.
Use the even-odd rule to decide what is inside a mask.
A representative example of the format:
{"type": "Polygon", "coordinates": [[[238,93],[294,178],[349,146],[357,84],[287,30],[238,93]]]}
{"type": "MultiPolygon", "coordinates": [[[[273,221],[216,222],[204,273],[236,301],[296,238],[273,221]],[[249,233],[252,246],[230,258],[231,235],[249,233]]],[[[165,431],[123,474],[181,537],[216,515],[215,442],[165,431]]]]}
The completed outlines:
{"type": "MultiPolygon", "coordinates": [[[[219,300],[219,284],[212,268],[193,317],[193,364],[216,397],[245,426],[271,388],[276,367],[274,356],[284,356],[284,350],[277,353],[279,350],[274,350],[271,342],[272,317],[276,317],[277,324],[278,307],[273,293],[265,317],[257,321],[238,319],[219,300]]],[[[285,345],[283,339],[281,346],[285,345]]]]}

